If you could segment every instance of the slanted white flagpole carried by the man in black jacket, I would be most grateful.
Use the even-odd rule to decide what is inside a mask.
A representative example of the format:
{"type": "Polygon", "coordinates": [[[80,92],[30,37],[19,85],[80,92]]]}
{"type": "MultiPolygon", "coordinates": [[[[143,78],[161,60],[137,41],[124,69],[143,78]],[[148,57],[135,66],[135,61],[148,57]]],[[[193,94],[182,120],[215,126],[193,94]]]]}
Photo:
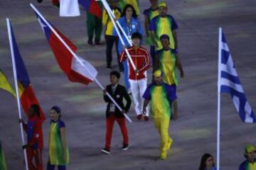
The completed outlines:
{"type": "MultiPolygon", "coordinates": [[[[66,42],[60,37],[60,35],[58,35],[58,33],[53,29],[52,26],[50,26],[50,24],[46,21],[46,19],[41,15],[41,13],[36,9],[35,6],[33,6],[33,4],[30,4],[31,8],[33,8],[33,10],[38,14],[38,16],[40,16],[43,21],[47,24],[47,26],[50,28],[51,31],[53,31],[53,33],[56,35],[56,37],[60,40],[60,42],[63,43],[63,45],[68,49],[68,51],[75,57],[76,60],[78,60],[78,62],[85,67],[85,64],[83,64],[83,62],[80,60],[80,58],[75,54],[75,52],[73,52],[73,50],[70,49],[70,47],[66,44],[66,42]]],[[[87,67],[85,67],[85,69],[87,69],[87,67]]],[[[90,73],[90,70],[87,70],[90,73]]],[[[96,78],[94,79],[95,82],[100,86],[100,88],[102,90],[104,90],[105,88],[102,86],[102,84],[100,84],[100,81],[98,81],[96,78]]],[[[122,111],[122,108],[117,104],[116,101],[114,101],[114,98],[112,98],[112,96],[110,96],[109,93],[106,93],[107,96],[110,98],[110,100],[114,103],[115,106],[117,106],[117,108],[122,111]]],[[[127,120],[132,123],[132,120],[128,117],[127,114],[123,113],[124,117],[127,118],[127,120]]]]}

